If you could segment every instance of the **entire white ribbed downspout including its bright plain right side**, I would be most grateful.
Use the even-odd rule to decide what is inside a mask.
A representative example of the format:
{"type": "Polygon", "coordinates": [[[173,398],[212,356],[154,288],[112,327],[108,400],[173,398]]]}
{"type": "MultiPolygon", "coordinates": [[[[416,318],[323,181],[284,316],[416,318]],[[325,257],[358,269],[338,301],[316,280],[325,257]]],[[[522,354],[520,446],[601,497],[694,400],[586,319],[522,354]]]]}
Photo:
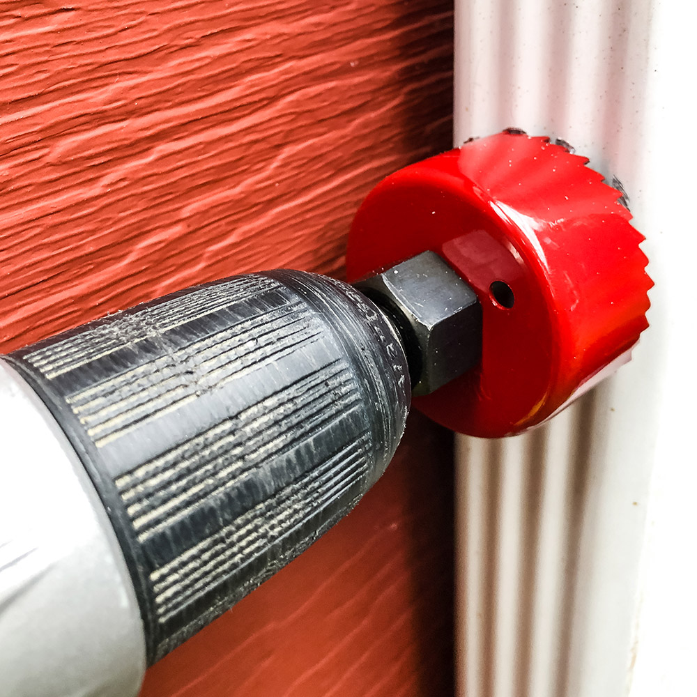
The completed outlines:
{"type": "Polygon", "coordinates": [[[656,284],[615,378],[525,436],[458,440],[459,694],[697,694],[697,9],[455,5],[455,144],[571,143],[629,193],[656,284]]]}

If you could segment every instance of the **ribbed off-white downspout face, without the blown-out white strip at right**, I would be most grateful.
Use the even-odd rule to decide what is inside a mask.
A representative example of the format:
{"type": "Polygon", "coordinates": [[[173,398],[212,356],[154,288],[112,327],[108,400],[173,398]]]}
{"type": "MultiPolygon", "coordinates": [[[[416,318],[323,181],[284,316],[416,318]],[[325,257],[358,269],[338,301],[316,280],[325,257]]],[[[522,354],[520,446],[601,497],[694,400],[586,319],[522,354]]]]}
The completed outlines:
{"type": "MultiPolygon", "coordinates": [[[[455,142],[509,126],[569,141],[618,176],[653,259],[641,148],[651,15],[650,0],[457,2],[455,142]]],[[[654,331],[618,376],[550,424],[459,439],[459,694],[627,694],[656,434],[654,331]]]]}

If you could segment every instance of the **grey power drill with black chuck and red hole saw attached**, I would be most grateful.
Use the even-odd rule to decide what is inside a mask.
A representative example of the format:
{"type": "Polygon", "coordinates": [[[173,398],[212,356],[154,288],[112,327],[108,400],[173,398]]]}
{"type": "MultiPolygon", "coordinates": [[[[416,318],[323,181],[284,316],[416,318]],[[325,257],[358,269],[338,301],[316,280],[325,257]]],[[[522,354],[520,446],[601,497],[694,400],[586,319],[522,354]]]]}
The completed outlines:
{"type": "Polygon", "coordinates": [[[470,141],[369,194],[353,285],[231,277],[4,356],[0,695],[135,696],[353,508],[412,401],[507,436],[627,360],[641,236],[585,164],[470,141]]]}

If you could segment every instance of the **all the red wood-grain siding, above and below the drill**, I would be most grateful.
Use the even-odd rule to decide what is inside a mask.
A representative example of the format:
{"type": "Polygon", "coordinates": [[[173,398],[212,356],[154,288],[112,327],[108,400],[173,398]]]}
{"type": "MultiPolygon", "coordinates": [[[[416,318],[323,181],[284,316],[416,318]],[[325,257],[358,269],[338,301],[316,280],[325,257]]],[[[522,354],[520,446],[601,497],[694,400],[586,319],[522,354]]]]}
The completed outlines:
{"type": "MultiPolygon", "coordinates": [[[[444,0],[0,7],[0,350],[261,268],[342,274],[383,176],[450,146],[444,0]]],[[[415,418],[346,521],[144,696],[449,694],[450,445],[415,418]]]]}

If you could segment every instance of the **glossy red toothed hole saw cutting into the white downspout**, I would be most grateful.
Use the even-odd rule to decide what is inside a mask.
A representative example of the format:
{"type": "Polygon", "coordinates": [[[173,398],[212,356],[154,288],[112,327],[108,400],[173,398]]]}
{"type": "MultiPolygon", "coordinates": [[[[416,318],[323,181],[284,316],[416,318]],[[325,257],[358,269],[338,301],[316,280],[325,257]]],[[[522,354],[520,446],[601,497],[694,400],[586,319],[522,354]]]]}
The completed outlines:
{"type": "Polygon", "coordinates": [[[362,204],[349,279],[432,250],[482,303],[480,366],[414,400],[434,420],[519,433],[629,360],[648,326],[643,236],[587,162],[503,132],[397,171],[362,204]]]}

